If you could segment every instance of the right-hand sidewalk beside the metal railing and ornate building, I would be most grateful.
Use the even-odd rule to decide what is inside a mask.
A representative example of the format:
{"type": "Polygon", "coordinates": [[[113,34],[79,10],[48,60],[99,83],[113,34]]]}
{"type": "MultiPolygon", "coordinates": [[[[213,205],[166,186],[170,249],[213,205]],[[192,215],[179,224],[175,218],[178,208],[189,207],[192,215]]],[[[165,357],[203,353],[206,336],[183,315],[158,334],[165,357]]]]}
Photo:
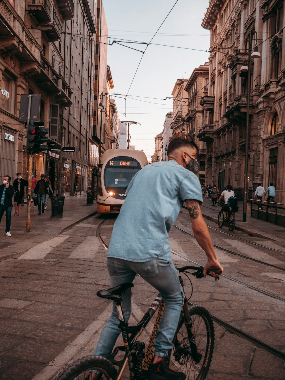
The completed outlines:
{"type": "MultiPolygon", "coordinates": [[[[209,198],[203,197],[201,206],[202,214],[205,219],[218,223],[218,213],[221,207],[217,204],[212,206],[209,198]]],[[[238,202],[239,211],[236,212],[236,230],[243,231],[252,236],[268,238],[278,241],[285,240],[285,227],[275,225],[274,223],[264,222],[263,220],[250,217],[250,205],[247,205],[247,221],[242,222],[242,202],[238,202]]]]}

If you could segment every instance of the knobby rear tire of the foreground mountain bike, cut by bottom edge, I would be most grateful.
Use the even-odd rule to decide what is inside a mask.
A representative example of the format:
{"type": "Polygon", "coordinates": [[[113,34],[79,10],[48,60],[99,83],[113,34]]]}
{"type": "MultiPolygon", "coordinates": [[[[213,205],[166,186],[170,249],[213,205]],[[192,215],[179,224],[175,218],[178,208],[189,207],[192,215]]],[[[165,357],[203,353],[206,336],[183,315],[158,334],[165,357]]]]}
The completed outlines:
{"type": "Polygon", "coordinates": [[[67,366],[55,380],[84,380],[90,370],[100,372],[97,378],[100,380],[113,380],[116,378],[117,370],[106,358],[98,355],[89,355],[80,358],[67,366]]]}

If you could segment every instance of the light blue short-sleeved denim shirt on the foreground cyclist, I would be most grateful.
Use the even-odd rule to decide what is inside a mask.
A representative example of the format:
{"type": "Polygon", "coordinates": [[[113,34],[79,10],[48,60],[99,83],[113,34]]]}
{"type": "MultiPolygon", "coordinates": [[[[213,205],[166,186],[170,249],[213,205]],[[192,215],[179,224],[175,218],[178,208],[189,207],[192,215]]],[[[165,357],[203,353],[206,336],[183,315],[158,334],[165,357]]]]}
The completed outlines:
{"type": "Polygon", "coordinates": [[[114,223],[107,257],[144,262],[170,260],[168,233],[185,199],[203,203],[198,177],[174,160],[138,171],[114,223]]]}

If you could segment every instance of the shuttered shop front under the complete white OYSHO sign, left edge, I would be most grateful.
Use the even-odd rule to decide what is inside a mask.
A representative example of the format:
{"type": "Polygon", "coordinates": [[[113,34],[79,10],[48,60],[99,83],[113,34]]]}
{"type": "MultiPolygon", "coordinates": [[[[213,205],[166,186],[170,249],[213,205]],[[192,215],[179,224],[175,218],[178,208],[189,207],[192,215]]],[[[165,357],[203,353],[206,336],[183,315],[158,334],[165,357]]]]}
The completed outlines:
{"type": "Polygon", "coordinates": [[[16,131],[8,127],[1,128],[0,177],[8,175],[12,181],[16,177],[16,140],[16,131]]]}

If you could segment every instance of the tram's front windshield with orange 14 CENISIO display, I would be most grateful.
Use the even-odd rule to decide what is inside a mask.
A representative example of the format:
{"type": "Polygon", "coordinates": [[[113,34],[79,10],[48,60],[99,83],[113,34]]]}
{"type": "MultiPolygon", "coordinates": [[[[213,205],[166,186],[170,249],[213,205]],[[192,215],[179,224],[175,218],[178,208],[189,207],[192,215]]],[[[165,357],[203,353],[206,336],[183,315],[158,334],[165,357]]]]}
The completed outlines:
{"type": "Polygon", "coordinates": [[[105,166],[104,184],[106,190],[126,189],[141,165],[132,157],[114,157],[105,166]]]}

